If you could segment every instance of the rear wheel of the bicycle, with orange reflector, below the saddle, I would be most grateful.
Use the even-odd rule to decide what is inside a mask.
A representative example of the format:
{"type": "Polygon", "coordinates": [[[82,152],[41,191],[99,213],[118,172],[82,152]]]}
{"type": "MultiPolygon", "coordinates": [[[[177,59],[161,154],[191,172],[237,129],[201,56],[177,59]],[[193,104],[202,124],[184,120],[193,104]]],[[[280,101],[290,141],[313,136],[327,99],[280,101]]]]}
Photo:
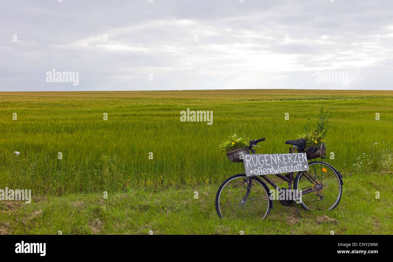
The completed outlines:
{"type": "Polygon", "coordinates": [[[333,209],[341,199],[341,177],[331,165],[322,161],[310,162],[309,169],[298,172],[294,181],[294,189],[302,191],[300,205],[306,210],[333,209]]]}

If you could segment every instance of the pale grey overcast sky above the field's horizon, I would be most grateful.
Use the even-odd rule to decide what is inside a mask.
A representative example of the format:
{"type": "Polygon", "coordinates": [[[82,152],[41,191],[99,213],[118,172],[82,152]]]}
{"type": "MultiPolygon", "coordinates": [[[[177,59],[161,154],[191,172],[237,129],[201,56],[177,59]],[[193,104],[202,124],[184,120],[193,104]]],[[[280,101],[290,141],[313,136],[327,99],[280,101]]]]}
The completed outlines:
{"type": "Polygon", "coordinates": [[[150,1],[2,1],[0,91],[393,90],[392,0],[150,1]]]}

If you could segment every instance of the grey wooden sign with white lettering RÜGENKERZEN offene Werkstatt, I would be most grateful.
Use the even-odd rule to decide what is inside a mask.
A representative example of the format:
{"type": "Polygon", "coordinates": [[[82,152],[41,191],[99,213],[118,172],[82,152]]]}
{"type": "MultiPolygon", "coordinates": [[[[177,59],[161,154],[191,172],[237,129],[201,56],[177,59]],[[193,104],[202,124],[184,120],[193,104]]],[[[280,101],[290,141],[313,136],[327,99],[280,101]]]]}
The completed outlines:
{"type": "Polygon", "coordinates": [[[309,170],[306,153],[244,154],[246,176],[282,174],[309,170]]]}

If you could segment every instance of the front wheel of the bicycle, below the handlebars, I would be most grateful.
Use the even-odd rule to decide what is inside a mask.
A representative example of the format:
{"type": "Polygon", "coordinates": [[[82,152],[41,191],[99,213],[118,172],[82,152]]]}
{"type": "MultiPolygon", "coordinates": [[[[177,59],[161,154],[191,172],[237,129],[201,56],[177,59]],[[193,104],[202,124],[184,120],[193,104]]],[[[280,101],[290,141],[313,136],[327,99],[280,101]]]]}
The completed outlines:
{"type": "Polygon", "coordinates": [[[216,194],[220,218],[265,218],[270,213],[268,186],[257,177],[237,174],[225,180],[216,194]]]}

